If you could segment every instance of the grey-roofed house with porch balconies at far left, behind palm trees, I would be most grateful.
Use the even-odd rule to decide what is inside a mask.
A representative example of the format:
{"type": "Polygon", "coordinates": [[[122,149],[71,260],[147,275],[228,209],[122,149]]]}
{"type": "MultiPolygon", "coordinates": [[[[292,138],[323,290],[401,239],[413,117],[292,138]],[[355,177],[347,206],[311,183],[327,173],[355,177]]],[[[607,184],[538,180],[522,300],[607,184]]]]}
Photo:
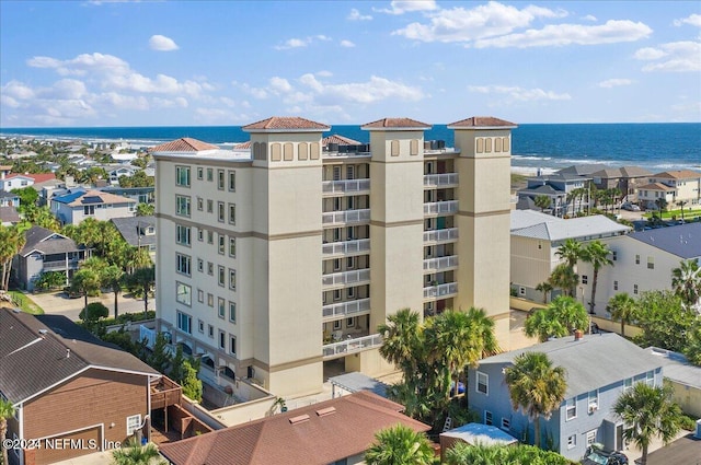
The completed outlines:
{"type": "Polygon", "coordinates": [[[34,282],[47,271],[60,271],[69,282],[89,252],[72,239],[41,226],[32,226],[25,233],[25,244],[15,256],[20,288],[34,290],[34,282]]]}

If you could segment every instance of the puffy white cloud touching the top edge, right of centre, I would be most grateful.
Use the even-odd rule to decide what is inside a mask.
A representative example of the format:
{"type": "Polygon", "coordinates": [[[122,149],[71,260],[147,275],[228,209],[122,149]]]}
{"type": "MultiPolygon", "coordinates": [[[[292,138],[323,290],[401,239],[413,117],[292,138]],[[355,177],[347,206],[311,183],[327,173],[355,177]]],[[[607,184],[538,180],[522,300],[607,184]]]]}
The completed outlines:
{"type": "Polygon", "coordinates": [[[566,16],[565,11],[528,5],[522,9],[491,1],[467,10],[456,7],[430,15],[428,23],[412,23],[392,34],[422,42],[470,42],[509,34],[537,19],[566,16]]]}

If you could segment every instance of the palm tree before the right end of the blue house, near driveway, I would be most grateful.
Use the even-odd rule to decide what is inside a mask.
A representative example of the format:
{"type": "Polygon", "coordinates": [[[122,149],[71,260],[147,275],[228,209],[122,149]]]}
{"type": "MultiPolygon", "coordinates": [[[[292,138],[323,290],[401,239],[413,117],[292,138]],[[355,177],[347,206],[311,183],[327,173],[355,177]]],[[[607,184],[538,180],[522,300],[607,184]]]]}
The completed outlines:
{"type": "Polygon", "coordinates": [[[632,440],[642,450],[642,465],[647,463],[647,447],[654,437],[662,438],[667,444],[679,432],[681,409],[671,400],[669,386],[637,383],[621,394],[613,411],[629,426],[623,430],[623,438],[632,440]]]}

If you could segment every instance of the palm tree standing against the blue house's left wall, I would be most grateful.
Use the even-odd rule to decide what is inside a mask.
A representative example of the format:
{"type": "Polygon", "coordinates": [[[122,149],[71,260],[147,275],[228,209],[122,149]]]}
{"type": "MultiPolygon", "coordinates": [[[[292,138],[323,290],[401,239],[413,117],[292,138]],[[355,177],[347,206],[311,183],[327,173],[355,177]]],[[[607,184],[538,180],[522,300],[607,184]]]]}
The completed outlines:
{"type": "Polygon", "coordinates": [[[514,410],[519,408],[533,422],[535,445],[540,446],[540,417],[550,419],[552,411],[565,398],[566,371],[553,367],[545,353],[526,352],[514,359],[505,369],[504,380],[508,386],[514,410]]]}

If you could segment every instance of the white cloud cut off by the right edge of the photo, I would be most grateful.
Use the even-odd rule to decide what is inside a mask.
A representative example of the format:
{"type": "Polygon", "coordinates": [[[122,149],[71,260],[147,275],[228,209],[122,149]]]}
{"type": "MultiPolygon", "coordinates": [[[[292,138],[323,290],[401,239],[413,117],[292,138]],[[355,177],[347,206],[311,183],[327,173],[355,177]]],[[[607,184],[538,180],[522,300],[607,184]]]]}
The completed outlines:
{"type": "Polygon", "coordinates": [[[654,61],[643,67],[646,72],[701,71],[701,42],[670,42],[657,47],[645,47],[635,51],[634,58],[654,61]]]}

